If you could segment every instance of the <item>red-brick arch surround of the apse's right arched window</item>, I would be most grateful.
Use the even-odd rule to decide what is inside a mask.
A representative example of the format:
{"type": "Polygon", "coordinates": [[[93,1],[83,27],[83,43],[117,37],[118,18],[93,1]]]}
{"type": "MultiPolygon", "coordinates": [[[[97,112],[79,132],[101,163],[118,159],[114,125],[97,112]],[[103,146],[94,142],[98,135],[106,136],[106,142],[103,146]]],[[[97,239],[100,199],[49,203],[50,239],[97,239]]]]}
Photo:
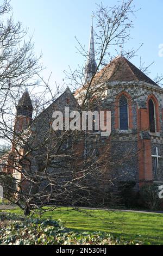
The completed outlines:
{"type": "Polygon", "coordinates": [[[148,127],[149,127],[149,100],[153,100],[155,105],[155,115],[156,115],[156,131],[159,132],[161,130],[160,126],[160,115],[159,115],[159,102],[156,99],[154,94],[150,94],[147,99],[147,113],[148,113],[148,127]]]}

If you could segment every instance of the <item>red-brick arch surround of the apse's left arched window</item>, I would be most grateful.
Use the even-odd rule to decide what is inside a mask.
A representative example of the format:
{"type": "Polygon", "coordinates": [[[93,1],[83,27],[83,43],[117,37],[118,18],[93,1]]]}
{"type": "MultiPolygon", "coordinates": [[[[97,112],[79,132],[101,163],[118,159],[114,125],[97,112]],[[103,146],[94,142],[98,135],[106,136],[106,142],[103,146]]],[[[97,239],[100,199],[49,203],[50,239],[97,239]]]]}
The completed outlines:
{"type": "Polygon", "coordinates": [[[115,129],[119,129],[119,126],[120,126],[119,103],[120,103],[121,96],[125,96],[128,102],[128,129],[133,129],[132,99],[129,93],[127,92],[121,92],[116,96],[116,99],[115,99],[115,129]]]}

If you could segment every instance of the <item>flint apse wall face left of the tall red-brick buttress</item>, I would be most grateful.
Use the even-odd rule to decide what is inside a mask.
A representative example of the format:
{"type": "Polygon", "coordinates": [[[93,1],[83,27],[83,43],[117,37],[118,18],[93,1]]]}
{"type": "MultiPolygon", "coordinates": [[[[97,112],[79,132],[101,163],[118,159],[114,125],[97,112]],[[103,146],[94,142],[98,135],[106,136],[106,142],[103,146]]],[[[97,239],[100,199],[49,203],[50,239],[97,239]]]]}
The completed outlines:
{"type": "MultiPolygon", "coordinates": [[[[126,89],[127,94],[130,88],[126,89]]],[[[121,94],[121,89],[110,90],[106,106],[111,111],[111,154],[113,162],[119,161],[112,167],[112,175],[115,178],[115,184],[118,181],[135,181],[136,187],[139,181],[138,147],[137,147],[137,102],[130,100],[130,128],[126,131],[120,131],[117,123],[118,102],[115,99],[121,94]],[[115,97],[112,97],[114,95],[115,97]],[[117,119],[117,120],[116,120],[117,119]]],[[[114,179],[113,178],[113,179],[114,179]]],[[[136,188],[135,187],[135,188],[136,188]]]]}

